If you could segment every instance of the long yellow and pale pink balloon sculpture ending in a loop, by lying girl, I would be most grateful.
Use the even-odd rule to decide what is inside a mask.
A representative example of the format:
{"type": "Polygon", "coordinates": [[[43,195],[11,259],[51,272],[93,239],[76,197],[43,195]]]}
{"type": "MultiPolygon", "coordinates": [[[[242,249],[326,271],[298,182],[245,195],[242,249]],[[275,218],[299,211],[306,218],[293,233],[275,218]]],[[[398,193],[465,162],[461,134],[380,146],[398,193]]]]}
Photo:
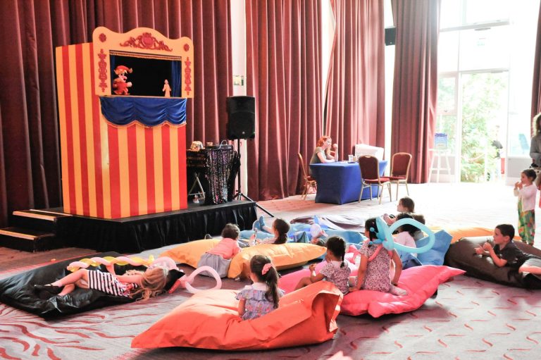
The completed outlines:
{"type": "MultiPolygon", "coordinates": [[[[69,271],[77,271],[80,268],[88,268],[89,266],[100,266],[100,265],[132,265],[132,266],[147,266],[147,268],[153,268],[155,266],[162,266],[163,268],[167,268],[168,270],[177,269],[177,264],[173,259],[167,256],[161,256],[158,257],[158,259],[154,259],[154,256],[149,256],[149,259],[142,259],[138,256],[104,256],[104,257],[93,257],[93,258],[85,258],[81,259],[80,261],[73,261],[68,265],[69,271]]],[[[220,289],[222,287],[222,279],[220,279],[220,275],[211,268],[210,266],[201,266],[200,268],[197,268],[193,273],[190,275],[184,275],[182,278],[178,279],[175,284],[170,288],[169,293],[172,293],[175,291],[178,287],[181,287],[183,289],[188,290],[192,294],[195,294],[196,292],[200,292],[201,289],[196,289],[192,286],[192,283],[194,282],[194,278],[197,274],[201,273],[201,271],[207,271],[210,273],[213,278],[216,280],[216,285],[211,289],[220,289]]]]}

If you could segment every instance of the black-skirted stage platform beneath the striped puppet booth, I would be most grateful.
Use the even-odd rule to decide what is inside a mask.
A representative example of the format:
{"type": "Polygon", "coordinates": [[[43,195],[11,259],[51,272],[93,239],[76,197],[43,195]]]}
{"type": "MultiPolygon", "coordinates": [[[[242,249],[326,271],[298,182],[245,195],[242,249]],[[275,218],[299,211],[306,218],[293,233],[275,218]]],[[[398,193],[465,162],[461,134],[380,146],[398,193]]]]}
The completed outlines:
{"type": "MultiPolygon", "coordinates": [[[[62,211],[50,209],[51,211],[62,211]]],[[[189,203],[188,209],[153,213],[130,218],[102,219],[67,216],[56,221],[56,235],[68,247],[96,249],[99,252],[138,253],[170,244],[219,235],[226,223],[247,230],[256,220],[254,201],[225,204],[189,203]]]]}

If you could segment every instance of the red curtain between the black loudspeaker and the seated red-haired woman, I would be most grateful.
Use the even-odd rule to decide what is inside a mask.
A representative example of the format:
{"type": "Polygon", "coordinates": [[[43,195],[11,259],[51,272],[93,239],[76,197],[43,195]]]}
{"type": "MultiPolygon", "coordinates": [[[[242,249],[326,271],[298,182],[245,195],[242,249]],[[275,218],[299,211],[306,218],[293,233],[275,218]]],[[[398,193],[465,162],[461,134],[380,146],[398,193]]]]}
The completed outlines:
{"type": "Polygon", "coordinates": [[[248,141],[248,195],[297,194],[299,161],[322,130],[320,1],[246,1],[247,95],[256,98],[248,141]]]}

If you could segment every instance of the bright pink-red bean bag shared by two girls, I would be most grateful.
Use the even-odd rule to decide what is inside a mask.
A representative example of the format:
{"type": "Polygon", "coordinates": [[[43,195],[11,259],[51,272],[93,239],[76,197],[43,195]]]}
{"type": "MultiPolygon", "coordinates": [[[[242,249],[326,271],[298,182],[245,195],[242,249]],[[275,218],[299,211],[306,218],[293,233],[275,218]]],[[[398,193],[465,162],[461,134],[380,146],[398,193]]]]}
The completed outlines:
{"type": "MultiPolygon", "coordinates": [[[[316,267],[317,269],[317,267],[316,267]]],[[[317,270],[316,270],[317,271],[317,270]]],[[[406,296],[396,296],[388,292],[359,290],[344,296],[340,314],[370,314],[378,318],[385,314],[401,314],[421,307],[437,290],[438,285],[464,271],[448,266],[423,265],[407,268],[400,275],[399,287],[407,290],[406,296]]],[[[280,278],[280,289],[285,292],[294,290],[299,279],[310,275],[308,269],[287,274],[280,278]]],[[[353,276],[354,274],[352,274],[353,276]]],[[[326,283],[323,281],[323,283],[326,283]]]]}

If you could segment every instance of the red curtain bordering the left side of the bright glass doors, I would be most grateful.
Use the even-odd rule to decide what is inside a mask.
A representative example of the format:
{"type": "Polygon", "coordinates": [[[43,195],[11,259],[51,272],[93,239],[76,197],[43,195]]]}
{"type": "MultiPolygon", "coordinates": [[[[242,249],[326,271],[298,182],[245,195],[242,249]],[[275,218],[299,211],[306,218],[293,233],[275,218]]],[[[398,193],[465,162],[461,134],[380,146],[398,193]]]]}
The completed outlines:
{"type": "Polygon", "coordinates": [[[440,1],[392,0],[397,26],[392,96],[392,154],[413,155],[411,182],[426,182],[434,144],[440,1]]]}

